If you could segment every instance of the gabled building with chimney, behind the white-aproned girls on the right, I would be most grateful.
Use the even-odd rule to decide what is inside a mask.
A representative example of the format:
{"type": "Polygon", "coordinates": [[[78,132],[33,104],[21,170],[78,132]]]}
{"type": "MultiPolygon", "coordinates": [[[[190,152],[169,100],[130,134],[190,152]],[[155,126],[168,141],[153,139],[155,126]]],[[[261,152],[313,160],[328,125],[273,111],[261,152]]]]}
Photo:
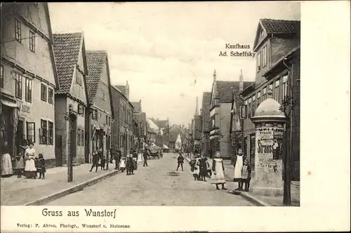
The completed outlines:
{"type": "MultiPolygon", "coordinates": [[[[244,81],[243,86],[249,86],[252,82],[244,81]]],[[[232,142],[230,138],[230,109],[232,107],[232,95],[239,93],[239,81],[217,81],[216,70],[213,73],[210,111],[210,147],[213,153],[220,152],[224,158],[230,158],[232,142]],[[237,91],[235,91],[237,90],[237,91]]]]}

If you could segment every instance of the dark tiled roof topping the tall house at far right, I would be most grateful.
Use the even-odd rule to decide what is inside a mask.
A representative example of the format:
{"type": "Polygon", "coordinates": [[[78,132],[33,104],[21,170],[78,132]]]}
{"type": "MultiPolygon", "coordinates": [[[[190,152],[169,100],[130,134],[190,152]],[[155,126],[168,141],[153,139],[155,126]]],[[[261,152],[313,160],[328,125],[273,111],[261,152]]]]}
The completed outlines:
{"type": "Polygon", "coordinates": [[[300,32],[299,20],[260,19],[267,34],[296,34],[300,32]]]}

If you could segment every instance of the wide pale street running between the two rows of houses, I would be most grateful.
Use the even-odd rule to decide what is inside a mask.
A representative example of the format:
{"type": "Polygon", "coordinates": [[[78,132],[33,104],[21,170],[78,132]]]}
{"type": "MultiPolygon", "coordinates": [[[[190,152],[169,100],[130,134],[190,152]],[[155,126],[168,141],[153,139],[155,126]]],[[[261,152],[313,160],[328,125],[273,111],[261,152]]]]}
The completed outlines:
{"type": "Polygon", "coordinates": [[[209,178],[194,181],[186,161],[184,171],[176,171],[176,156],[148,160],[149,166],[138,165],[134,175],[119,173],[46,206],[254,206],[227,192],[234,187],[230,182],[224,191],[210,185],[209,178]]]}

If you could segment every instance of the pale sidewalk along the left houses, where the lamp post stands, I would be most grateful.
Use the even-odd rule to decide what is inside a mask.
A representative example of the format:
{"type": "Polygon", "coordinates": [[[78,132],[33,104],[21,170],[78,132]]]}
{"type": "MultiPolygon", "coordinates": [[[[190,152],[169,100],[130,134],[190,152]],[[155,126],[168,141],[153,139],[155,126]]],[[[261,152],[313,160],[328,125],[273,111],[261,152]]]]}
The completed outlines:
{"type": "MultiPolygon", "coordinates": [[[[141,161],[143,160],[138,158],[139,165],[141,161]]],[[[95,173],[95,168],[89,172],[91,165],[74,166],[73,182],[67,182],[67,167],[48,168],[45,180],[27,179],[23,176],[17,178],[17,175],[1,178],[1,206],[21,206],[38,199],[62,197],[119,173],[114,170],[114,164],[109,164],[109,170],[104,171],[98,168],[97,173],[95,173]]]]}

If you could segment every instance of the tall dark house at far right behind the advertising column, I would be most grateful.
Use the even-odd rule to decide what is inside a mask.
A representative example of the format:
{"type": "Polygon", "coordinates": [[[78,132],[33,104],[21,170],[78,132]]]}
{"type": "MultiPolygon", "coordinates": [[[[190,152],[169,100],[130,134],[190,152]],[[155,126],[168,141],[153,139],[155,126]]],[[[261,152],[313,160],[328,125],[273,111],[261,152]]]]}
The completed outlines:
{"type": "Polygon", "coordinates": [[[255,161],[255,126],[251,117],[255,109],[267,98],[272,90],[273,98],[281,105],[293,97],[290,128],[286,128],[291,144],[288,156],[291,157],[292,179],[300,179],[300,21],[261,19],[258,22],[253,51],[256,56],[256,81],[245,88],[244,105],[247,116],[244,120],[244,152],[255,161]],[[289,85],[291,84],[291,85],[289,85]],[[289,88],[291,86],[292,88],[289,88]]]}

